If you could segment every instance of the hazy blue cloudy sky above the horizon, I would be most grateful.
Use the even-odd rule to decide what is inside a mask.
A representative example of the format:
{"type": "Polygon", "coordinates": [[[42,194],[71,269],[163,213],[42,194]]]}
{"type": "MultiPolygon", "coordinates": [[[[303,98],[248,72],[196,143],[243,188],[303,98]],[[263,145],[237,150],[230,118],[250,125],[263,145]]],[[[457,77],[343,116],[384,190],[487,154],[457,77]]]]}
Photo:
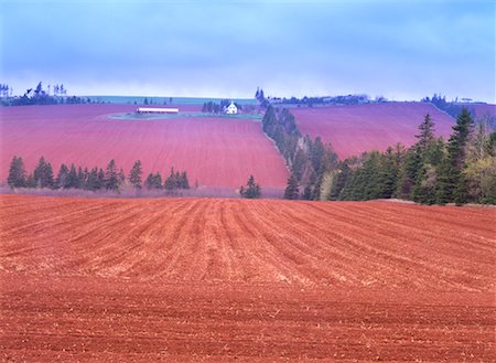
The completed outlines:
{"type": "Polygon", "coordinates": [[[0,83],[495,102],[495,1],[0,0],[0,83]]]}

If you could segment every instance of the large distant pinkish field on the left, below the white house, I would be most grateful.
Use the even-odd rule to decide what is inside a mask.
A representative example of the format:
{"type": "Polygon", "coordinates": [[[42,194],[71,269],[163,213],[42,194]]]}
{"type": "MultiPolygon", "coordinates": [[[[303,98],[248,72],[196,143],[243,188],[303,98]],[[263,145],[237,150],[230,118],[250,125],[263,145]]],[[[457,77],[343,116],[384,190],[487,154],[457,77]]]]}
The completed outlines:
{"type": "MultiPolygon", "coordinates": [[[[179,106],[200,110],[198,106],[179,106]]],[[[141,160],[150,172],[168,175],[186,170],[190,183],[237,188],[254,174],[262,186],[283,188],[288,171],[260,124],[247,119],[181,117],[122,120],[107,115],[129,113],[132,105],[57,105],[0,108],[0,181],[13,156],[33,170],[40,157],[52,162],[105,168],[110,159],[128,173],[141,160]]]]}

